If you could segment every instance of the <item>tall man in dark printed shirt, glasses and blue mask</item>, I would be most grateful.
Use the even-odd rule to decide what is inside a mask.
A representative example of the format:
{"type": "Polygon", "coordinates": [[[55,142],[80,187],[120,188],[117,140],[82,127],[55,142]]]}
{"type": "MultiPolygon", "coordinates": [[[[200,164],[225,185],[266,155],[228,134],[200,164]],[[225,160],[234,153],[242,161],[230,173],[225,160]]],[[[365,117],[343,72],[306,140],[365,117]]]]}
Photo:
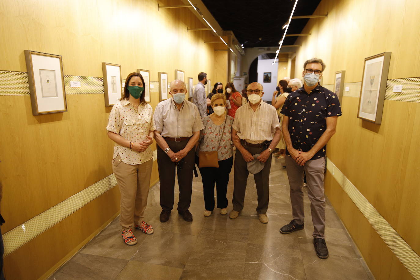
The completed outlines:
{"type": "Polygon", "coordinates": [[[321,59],[305,61],[302,72],[304,86],[287,96],[281,110],[293,220],[281,227],[280,232],[288,234],[304,227],[302,185],[305,172],[314,225],[313,243],[321,259],[328,258],[324,236],[325,149],[336,132],[337,118],[341,116],[336,94],[318,84],[324,69],[321,59]]]}

